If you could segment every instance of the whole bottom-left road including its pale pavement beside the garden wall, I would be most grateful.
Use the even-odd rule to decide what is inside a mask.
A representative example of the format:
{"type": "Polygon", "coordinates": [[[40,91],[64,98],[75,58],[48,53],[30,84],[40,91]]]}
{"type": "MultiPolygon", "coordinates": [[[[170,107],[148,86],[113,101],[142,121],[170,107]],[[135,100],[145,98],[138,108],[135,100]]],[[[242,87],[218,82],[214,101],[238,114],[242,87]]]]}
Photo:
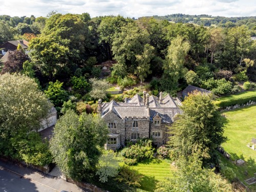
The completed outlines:
{"type": "Polygon", "coordinates": [[[40,173],[29,167],[22,167],[0,161],[0,192],[88,192],[73,183],[40,173]]]}

